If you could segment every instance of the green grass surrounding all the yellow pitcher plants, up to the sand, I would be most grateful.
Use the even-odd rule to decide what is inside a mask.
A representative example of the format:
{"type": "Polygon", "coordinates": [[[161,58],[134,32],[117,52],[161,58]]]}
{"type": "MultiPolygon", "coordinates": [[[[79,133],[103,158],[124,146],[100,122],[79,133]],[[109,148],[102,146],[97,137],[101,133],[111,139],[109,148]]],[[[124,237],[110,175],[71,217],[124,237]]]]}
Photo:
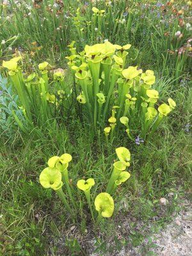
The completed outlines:
{"type": "MultiPolygon", "coordinates": [[[[189,39],[190,32],[186,26],[178,28],[179,18],[188,22],[189,8],[186,7],[184,14],[178,16],[172,13],[170,6],[166,6],[166,12],[158,8],[156,1],[144,9],[142,4],[145,1],[115,2],[113,8],[100,1],[97,7],[106,10],[106,14],[102,18],[100,31],[95,31],[93,24],[88,23],[94,18],[90,1],[88,6],[83,1],[63,2],[62,15],[57,13],[58,9],[50,12],[48,4],[52,1],[38,4],[41,8],[35,8],[29,1],[32,10],[12,0],[10,6],[1,4],[0,41],[6,41],[0,47],[1,59],[9,59],[22,48],[20,53],[24,56],[24,68],[30,73],[42,60],[49,61],[52,68],[66,68],[67,44],[72,40],[77,41],[79,49],[104,39],[122,45],[130,43],[133,50],[129,54],[129,64],[155,70],[156,90],[162,100],[173,97],[177,108],[152,140],[140,145],[130,142],[121,131],[116,134],[113,145],[106,145],[99,133],[92,133],[89,124],[81,122],[77,116],[74,118],[75,112],[70,108],[65,116],[65,126],[56,130],[51,126],[46,130],[44,127],[37,128],[41,136],[36,136],[34,132],[23,134],[13,119],[1,125],[0,255],[90,255],[93,250],[99,255],[116,255],[126,246],[142,244],[148,234],[164,227],[166,221],[170,221],[173,214],[180,210],[179,202],[191,187],[191,134],[188,131],[192,111],[191,58],[188,52],[179,56],[175,51],[179,51],[189,39]],[[153,6],[154,11],[151,12],[153,6]],[[77,7],[81,10],[79,17],[77,7]],[[29,12],[31,14],[24,17],[29,12]],[[175,16],[169,23],[171,14],[175,16]],[[47,19],[45,24],[42,23],[43,17],[47,19]],[[123,18],[125,24],[116,20],[123,18]],[[109,22],[108,26],[106,22],[109,22]],[[60,26],[65,28],[65,33],[56,29],[60,26]],[[175,38],[177,30],[183,33],[180,40],[175,38]],[[14,35],[18,35],[17,38],[8,41],[14,35]],[[31,44],[33,42],[36,43],[31,44]],[[95,230],[84,195],[78,191],[79,223],[70,223],[70,216],[56,193],[40,186],[38,177],[47,160],[63,152],[71,154],[73,161],[68,173],[72,186],[76,188],[80,178],[94,177],[96,185],[92,188],[92,196],[95,198],[106,186],[116,157],[115,148],[120,146],[131,151],[131,178],[118,188],[114,196],[113,218],[103,220],[95,230]],[[170,193],[173,193],[172,198],[170,193]],[[161,197],[168,198],[166,207],[159,205],[161,197]],[[152,223],[151,228],[148,223],[152,223]],[[121,234],[121,239],[118,234],[121,234]],[[93,243],[92,239],[95,239],[93,243]]],[[[181,1],[175,7],[177,11],[186,6],[184,4],[181,1]]],[[[68,75],[67,83],[72,84],[68,75]]],[[[74,100],[72,108],[75,106],[74,100]]],[[[8,113],[6,116],[12,118],[8,113]]],[[[148,248],[153,246],[149,241],[141,253],[147,255],[148,248]]]]}

